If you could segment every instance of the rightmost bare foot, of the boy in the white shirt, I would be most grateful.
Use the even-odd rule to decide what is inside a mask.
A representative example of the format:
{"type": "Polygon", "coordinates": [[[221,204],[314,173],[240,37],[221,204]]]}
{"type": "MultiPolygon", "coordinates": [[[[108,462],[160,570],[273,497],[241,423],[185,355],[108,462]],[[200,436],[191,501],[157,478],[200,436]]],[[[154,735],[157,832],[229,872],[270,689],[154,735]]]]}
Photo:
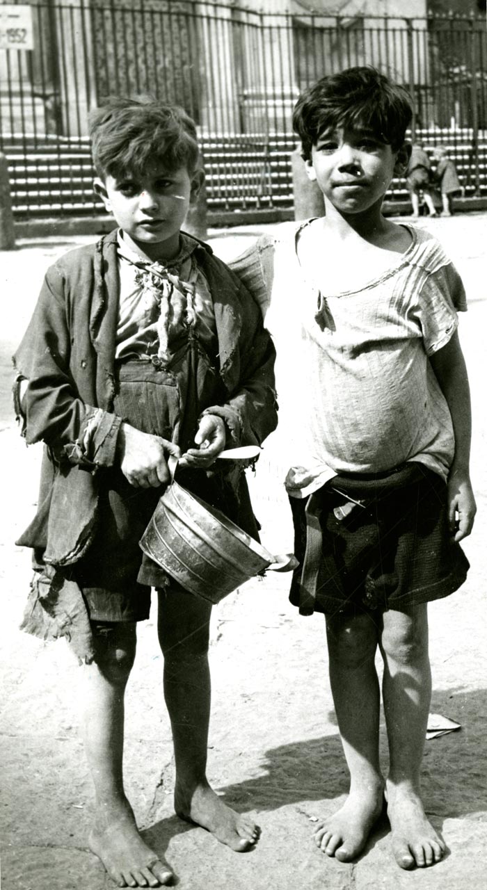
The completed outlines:
{"type": "Polygon", "coordinates": [[[444,841],[426,819],[421,798],[414,791],[387,783],[387,816],[394,859],[401,869],[424,869],[442,860],[444,841]]]}

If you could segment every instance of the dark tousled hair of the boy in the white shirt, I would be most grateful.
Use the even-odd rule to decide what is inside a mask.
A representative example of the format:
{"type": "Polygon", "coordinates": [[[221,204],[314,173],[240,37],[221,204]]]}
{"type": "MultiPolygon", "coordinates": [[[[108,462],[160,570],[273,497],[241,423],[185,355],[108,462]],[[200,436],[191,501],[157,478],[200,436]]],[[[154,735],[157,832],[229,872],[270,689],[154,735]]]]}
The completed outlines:
{"type": "Polygon", "coordinates": [[[364,66],[321,77],[304,90],[293,111],[293,127],[304,160],[310,160],[321,134],[338,126],[367,127],[397,151],[411,117],[410,95],[404,87],[364,66]]]}

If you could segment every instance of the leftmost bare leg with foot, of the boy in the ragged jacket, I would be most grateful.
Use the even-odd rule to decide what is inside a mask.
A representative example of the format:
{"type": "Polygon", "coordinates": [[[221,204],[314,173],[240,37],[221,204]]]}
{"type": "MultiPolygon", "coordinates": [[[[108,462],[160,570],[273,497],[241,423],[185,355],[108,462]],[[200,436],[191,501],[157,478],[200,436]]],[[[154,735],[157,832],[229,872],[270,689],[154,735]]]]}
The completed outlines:
{"type": "Polygon", "coordinates": [[[96,634],[96,663],[83,667],[83,733],[93,776],[96,812],[90,848],[118,886],[157,887],[173,873],[144,844],[122,776],[124,694],[134,663],[134,624],[96,634]]]}

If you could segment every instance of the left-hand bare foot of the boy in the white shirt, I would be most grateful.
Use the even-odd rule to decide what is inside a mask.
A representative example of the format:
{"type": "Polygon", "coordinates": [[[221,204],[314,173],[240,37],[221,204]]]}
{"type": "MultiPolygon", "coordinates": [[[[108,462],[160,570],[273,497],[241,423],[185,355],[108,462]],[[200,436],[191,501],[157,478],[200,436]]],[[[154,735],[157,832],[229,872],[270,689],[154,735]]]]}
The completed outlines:
{"type": "Polygon", "coordinates": [[[355,859],[367,843],[370,831],[382,813],[383,789],[355,791],[345,804],[322,822],[314,832],[314,840],[323,853],[335,856],[340,862],[355,859]]]}

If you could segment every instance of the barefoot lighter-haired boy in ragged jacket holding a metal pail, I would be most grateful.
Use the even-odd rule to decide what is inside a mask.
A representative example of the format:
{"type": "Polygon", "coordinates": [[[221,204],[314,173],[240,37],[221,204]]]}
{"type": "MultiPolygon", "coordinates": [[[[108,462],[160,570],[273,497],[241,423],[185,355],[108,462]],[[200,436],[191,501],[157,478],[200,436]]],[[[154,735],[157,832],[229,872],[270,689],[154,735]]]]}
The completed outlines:
{"type": "Polygon", "coordinates": [[[124,693],[150,587],[175,811],[237,852],[259,836],[207,782],[211,604],[142,559],[138,542],[169,455],[182,456],[183,486],[257,536],[243,470],[215,459],[274,429],[274,348],[236,275],[181,231],[203,178],[183,109],[113,101],[93,112],[91,136],[94,189],[118,228],[47,271],[15,356],[27,441],[45,442],[37,516],[19,542],[37,570],[25,627],[67,635],[85,662],[90,847],[118,886],[152,887],[174,875],[143,842],[122,775],[124,693]]]}

